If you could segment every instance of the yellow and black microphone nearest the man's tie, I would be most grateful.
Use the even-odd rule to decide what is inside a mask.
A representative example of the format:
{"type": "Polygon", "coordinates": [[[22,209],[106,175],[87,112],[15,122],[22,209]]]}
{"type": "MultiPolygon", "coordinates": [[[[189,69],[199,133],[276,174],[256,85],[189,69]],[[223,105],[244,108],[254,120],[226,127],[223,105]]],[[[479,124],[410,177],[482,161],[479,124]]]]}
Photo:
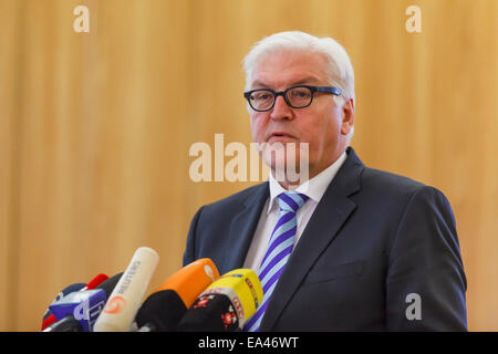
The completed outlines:
{"type": "Polygon", "coordinates": [[[256,313],[263,291],[250,269],[236,269],[210,284],[178,324],[178,332],[241,331],[256,313]]]}

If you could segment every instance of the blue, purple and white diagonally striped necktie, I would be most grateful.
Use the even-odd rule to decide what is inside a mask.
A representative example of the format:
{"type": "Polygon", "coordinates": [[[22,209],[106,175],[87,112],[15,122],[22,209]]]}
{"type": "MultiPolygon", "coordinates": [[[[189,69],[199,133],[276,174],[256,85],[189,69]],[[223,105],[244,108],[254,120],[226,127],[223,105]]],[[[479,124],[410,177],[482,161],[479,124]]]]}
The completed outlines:
{"type": "Polygon", "coordinates": [[[278,196],[280,207],[279,220],[271,233],[258,274],[263,288],[263,299],[255,315],[245,325],[243,331],[246,332],[259,331],[269,299],[294,246],[298,225],[295,214],[307,200],[308,197],[305,195],[297,191],[286,191],[278,196]]]}

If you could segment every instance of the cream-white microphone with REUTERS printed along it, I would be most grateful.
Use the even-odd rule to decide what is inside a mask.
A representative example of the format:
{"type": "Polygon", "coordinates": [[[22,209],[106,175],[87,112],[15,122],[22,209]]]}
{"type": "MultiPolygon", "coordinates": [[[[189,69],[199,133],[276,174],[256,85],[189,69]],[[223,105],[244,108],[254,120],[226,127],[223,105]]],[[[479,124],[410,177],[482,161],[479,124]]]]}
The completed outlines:
{"type": "Polygon", "coordinates": [[[104,311],[96,320],[94,332],[129,331],[157,267],[159,256],[148,247],[135,251],[126,271],[114,288],[104,311]]]}

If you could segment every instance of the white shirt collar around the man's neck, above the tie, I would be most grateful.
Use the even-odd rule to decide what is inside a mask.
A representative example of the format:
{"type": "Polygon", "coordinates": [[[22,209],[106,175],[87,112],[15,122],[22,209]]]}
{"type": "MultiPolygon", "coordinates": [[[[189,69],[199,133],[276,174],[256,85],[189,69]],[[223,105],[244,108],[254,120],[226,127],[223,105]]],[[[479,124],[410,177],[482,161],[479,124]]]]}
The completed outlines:
{"type": "MultiPolygon", "coordinates": [[[[302,192],[307,195],[310,199],[314,200],[315,202],[319,202],[320,199],[322,199],[323,195],[325,194],[326,187],[329,187],[330,183],[338,174],[339,169],[345,162],[346,157],[347,157],[346,153],[345,152],[342,153],[342,155],[332,165],[330,165],[320,174],[311,178],[308,183],[300,185],[295,189],[295,191],[302,192]]],[[[276,205],[276,198],[281,192],[287,191],[287,189],[280,186],[277,179],[274,179],[271,170],[269,176],[269,184],[270,184],[270,202],[268,205],[267,211],[268,214],[273,208],[273,205],[276,205]]]]}

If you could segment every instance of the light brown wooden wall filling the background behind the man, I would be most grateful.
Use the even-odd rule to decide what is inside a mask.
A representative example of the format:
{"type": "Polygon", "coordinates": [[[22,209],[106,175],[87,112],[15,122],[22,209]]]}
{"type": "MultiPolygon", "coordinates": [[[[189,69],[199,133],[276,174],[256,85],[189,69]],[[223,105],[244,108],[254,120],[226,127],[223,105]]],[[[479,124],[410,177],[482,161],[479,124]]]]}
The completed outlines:
{"type": "Polygon", "coordinates": [[[189,147],[249,146],[241,61],[284,30],[345,46],[353,147],[445,192],[469,329],[498,330],[497,17],[495,0],[0,0],[0,330],[38,330],[59,290],[139,246],[160,254],[152,288],[180,267],[194,212],[253,184],[194,183],[189,147]]]}

